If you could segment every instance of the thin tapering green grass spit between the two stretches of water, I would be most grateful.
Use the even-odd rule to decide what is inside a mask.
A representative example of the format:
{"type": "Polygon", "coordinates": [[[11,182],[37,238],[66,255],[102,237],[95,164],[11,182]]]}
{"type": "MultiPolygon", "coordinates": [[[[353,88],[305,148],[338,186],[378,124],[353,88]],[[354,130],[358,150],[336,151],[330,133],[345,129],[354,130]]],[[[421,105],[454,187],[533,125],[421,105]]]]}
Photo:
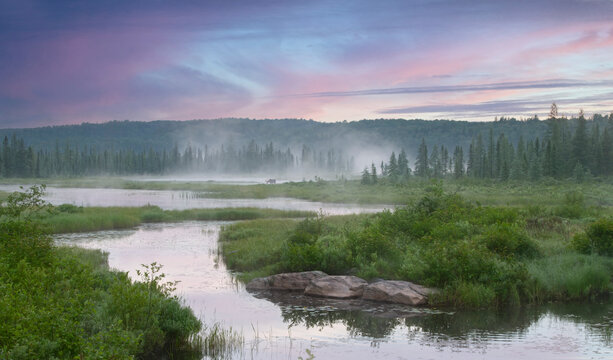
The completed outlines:
{"type": "Polygon", "coordinates": [[[189,220],[251,220],[265,218],[301,218],[315,215],[309,211],[260,208],[222,208],[162,210],[143,207],[77,207],[60,205],[41,220],[52,233],[128,229],[142,223],[180,222],[189,220]]]}

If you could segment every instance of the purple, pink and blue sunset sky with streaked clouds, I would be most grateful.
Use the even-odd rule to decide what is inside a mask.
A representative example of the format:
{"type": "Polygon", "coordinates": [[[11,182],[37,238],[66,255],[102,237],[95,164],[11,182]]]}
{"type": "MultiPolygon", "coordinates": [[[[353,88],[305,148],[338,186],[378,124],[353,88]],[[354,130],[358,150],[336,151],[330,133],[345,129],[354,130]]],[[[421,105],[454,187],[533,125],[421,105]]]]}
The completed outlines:
{"type": "Polygon", "coordinates": [[[0,127],[613,111],[613,0],[0,0],[0,127]]]}

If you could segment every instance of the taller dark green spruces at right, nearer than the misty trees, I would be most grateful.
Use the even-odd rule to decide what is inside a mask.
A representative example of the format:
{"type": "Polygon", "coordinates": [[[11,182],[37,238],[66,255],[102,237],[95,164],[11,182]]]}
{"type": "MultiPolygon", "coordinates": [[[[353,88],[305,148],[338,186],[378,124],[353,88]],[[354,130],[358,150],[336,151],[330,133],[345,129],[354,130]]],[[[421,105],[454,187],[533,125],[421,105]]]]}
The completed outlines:
{"type": "MultiPolygon", "coordinates": [[[[613,116],[595,115],[585,118],[583,111],[572,119],[559,117],[557,106],[552,105],[545,120],[546,134],[525,140],[520,136],[516,143],[504,133],[495,136],[490,129],[488,136],[478,134],[465,148],[456,145],[453,150],[445,145],[428,149],[422,139],[417,149],[413,173],[419,177],[471,177],[499,180],[532,180],[542,177],[556,179],[586,176],[613,175],[613,116]]],[[[380,165],[380,176],[392,182],[406,180],[410,175],[400,159],[392,153],[387,163],[380,165]]],[[[377,181],[377,169],[364,169],[362,183],[377,181]]]]}

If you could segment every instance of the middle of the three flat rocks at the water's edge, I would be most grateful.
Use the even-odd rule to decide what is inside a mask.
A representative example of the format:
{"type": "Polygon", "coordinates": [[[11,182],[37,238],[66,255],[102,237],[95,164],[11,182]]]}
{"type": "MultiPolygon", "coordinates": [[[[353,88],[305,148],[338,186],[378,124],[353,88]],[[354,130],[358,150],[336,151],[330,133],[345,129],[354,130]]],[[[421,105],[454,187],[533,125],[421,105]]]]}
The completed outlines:
{"type": "Polygon", "coordinates": [[[355,276],[324,276],[311,281],[304,289],[306,295],[323,296],[337,299],[350,299],[362,296],[366,280],[355,276]]]}

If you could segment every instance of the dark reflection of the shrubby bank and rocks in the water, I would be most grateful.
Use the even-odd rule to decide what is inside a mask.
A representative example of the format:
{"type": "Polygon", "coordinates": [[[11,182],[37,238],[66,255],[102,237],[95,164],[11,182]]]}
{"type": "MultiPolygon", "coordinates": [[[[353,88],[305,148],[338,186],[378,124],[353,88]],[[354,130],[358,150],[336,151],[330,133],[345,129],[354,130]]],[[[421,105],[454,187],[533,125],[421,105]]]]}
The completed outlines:
{"type": "Polygon", "coordinates": [[[256,298],[281,309],[289,327],[324,328],[342,324],[351,337],[382,339],[397,327],[426,335],[433,343],[489,341],[522,337],[540,321],[570,321],[585,325],[591,336],[611,345],[613,304],[554,304],[517,307],[505,311],[443,311],[361,299],[337,300],[304,296],[295,292],[259,291],[256,298]]]}

